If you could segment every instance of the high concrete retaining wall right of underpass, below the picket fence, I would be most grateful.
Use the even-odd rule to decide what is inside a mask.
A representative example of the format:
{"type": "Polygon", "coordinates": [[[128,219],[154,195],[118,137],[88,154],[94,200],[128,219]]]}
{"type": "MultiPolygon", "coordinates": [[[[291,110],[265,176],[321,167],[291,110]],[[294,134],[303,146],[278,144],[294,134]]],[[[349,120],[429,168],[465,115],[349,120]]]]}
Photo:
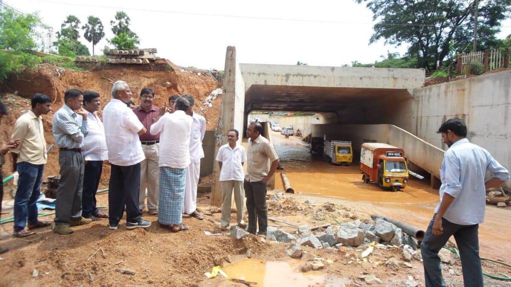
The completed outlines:
{"type": "MultiPolygon", "coordinates": [[[[511,71],[418,88],[413,91],[410,132],[447,149],[438,127],[451,117],[464,118],[471,142],[511,168],[511,71]]],[[[507,183],[511,187],[511,181],[507,183]]]]}

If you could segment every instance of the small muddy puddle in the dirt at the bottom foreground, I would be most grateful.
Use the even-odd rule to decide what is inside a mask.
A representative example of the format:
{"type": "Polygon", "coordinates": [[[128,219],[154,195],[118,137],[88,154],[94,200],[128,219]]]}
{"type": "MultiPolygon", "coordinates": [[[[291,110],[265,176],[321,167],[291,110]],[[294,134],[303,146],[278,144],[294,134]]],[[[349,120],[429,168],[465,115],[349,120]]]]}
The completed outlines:
{"type": "Polygon", "coordinates": [[[255,258],[243,259],[225,266],[229,278],[257,282],[254,286],[307,287],[322,286],[323,276],[316,272],[299,273],[300,261],[265,261],[255,258]]]}

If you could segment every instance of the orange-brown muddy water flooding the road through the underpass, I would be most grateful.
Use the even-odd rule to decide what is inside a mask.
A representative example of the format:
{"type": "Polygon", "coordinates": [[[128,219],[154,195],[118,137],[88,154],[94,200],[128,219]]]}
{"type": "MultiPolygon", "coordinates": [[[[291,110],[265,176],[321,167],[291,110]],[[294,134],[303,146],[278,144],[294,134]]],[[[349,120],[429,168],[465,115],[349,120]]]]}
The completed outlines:
{"type": "Polygon", "coordinates": [[[285,172],[295,192],[331,196],[374,203],[427,203],[438,200],[438,191],[429,182],[410,178],[401,192],[381,189],[376,183],[364,184],[358,163],[340,166],[321,156],[312,156],[299,138],[273,133],[272,141],[284,170],[278,170],[275,187],[283,188],[280,172],[285,172]]]}

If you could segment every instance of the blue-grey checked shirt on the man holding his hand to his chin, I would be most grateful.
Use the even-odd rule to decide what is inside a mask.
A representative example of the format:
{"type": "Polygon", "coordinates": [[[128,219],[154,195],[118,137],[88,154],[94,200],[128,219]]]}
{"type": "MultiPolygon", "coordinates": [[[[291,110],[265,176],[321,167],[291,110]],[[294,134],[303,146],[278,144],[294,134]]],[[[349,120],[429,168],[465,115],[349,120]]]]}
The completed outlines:
{"type": "Polygon", "coordinates": [[[53,115],[53,136],[59,148],[81,149],[87,136],[87,121],[64,104],[53,115]]]}

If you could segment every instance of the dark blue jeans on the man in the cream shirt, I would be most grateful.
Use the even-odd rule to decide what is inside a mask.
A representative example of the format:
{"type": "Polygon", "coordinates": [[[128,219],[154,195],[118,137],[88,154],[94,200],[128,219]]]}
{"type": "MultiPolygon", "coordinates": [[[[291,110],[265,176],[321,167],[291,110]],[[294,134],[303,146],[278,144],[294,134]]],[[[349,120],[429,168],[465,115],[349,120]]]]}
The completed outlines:
{"type": "Polygon", "coordinates": [[[18,188],[14,196],[14,231],[19,231],[29,223],[37,223],[37,199],[41,195],[44,164],[26,161],[16,164],[19,174],[18,188]]]}

